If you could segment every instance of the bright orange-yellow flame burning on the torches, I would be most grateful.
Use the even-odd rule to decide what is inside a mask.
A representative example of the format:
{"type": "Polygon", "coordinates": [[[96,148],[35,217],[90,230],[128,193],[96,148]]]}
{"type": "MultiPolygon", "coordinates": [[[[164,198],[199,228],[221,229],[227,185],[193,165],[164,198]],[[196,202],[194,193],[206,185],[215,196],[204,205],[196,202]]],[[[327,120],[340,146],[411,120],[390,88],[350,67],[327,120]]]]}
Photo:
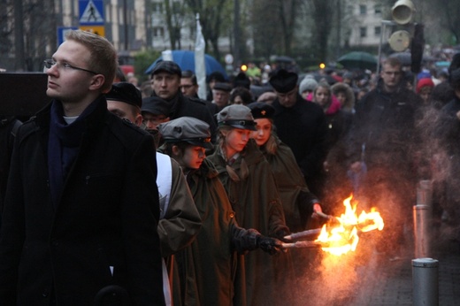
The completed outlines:
{"type": "Polygon", "coordinates": [[[349,198],[343,201],[345,213],[341,214],[341,217],[336,217],[340,222],[340,226],[334,226],[328,230],[324,225],[316,240],[316,242],[327,245],[327,247],[325,246],[321,249],[335,256],[355,251],[359,241],[359,232],[370,232],[375,229],[381,231],[384,226],[380,212],[376,211],[375,208],[372,208],[369,213],[363,210],[358,217],[357,203],[352,206],[352,198],[353,195],[350,195],[349,198]]]}

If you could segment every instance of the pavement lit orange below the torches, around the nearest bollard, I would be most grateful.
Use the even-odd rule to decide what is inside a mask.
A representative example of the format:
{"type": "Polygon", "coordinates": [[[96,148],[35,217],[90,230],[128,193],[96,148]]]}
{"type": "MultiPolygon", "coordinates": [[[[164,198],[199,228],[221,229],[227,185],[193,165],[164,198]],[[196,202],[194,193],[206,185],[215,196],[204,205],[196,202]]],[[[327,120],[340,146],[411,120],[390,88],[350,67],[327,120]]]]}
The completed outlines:
{"type": "MultiPolygon", "coordinates": [[[[460,305],[460,242],[436,236],[431,256],[438,260],[439,305],[460,305]]],[[[362,243],[361,241],[359,242],[362,243]]],[[[325,256],[308,252],[310,268],[294,287],[302,290],[289,305],[412,306],[414,246],[405,245],[395,259],[375,246],[358,245],[361,255],[325,256]],[[367,249],[366,249],[367,248],[367,249]],[[364,249],[364,251],[363,251],[364,249]],[[364,256],[363,256],[364,254],[364,256]]],[[[288,306],[288,304],[286,306],[288,306]]],[[[415,305],[418,306],[418,305],[415,305]]],[[[428,305],[431,306],[431,305],[428,305]]]]}

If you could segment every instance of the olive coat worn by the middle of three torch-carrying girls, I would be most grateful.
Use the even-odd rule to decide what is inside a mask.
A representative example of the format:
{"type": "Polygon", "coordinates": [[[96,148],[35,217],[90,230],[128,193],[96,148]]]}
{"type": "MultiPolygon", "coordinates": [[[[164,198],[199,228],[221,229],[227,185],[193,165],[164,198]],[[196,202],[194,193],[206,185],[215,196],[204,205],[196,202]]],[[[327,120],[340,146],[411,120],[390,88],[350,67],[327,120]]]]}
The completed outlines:
{"type": "MultiPolygon", "coordinates": [[[[242,155],[231,165],[239,180],[232,180],[228,174],[220,148],[207,158],[219,172],[219,180],[226,187],[240,226],[255,228],[266,236],[280,237],[288,233],[270,164],[257,149],[256,142],[249,140],[242,155]],[[248,176],[242,172],[246,166],[249,169],[248,176]]],[[[283,275],[286,275],[285,266],[290,262],[283,255],[271,257],[257,250],[239,258],[240,263],[244,263],[248,305],[274,301],[276,294],[273,288],[283,280],[283,275]]]]}

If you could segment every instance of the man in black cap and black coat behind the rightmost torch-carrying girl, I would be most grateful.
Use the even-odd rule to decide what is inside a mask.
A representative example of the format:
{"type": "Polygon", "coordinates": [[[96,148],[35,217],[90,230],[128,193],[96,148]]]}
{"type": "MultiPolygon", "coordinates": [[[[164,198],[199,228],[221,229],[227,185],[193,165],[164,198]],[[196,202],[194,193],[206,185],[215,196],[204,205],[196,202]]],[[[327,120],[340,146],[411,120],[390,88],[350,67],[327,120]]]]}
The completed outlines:
{"type": "Polygon", "coordinates": [[[284,69],[272,75],[277,98],[273,123],[281,142],[292,150],[307,186],[321,199],[323,163],[326,159],[326,115],[317,103],[305,103],[298,93],[298,76],[284,69]]]}

